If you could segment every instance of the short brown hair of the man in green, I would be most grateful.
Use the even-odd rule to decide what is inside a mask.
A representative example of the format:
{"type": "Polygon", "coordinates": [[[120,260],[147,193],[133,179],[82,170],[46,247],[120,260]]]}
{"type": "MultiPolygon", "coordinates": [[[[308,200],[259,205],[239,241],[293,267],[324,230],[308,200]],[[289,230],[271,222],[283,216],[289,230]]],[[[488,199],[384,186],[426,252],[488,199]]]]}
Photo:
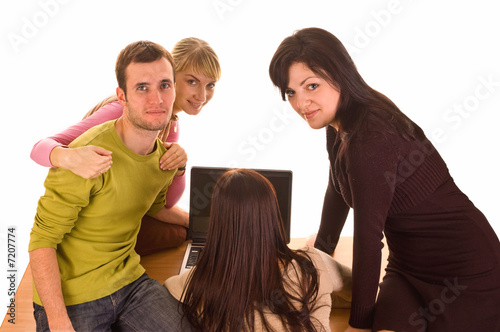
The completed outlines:
{"type": "Polygon", "coordinates": [[[172,55],[163,46],[148,40],[141,40],[127,45],[116,59],[115,73],[118,86],[127,94],[126,69],[132,62],[149,63],[166,58],[172,70],[174,71],[175,81],[175,63],[172,55]]]}

